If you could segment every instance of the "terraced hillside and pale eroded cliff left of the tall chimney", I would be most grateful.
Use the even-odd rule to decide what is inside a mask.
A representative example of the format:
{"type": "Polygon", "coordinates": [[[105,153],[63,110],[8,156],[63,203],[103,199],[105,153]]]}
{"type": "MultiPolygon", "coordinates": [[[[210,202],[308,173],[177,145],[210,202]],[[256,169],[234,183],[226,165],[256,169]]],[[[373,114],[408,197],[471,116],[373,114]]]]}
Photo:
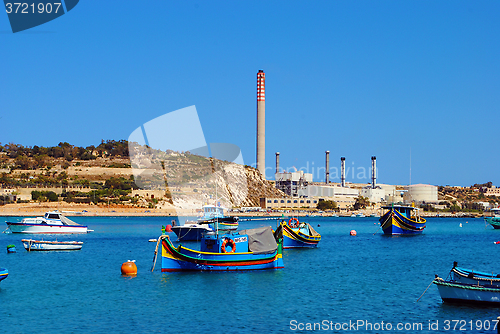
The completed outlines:
{"type": "MultiPolygon", "coordinates": [[[[30,200],[32,190],[59,187],[60,191],[55,191],[59,195],[64,188],[65,191],[78,191],[75,196],[79,198],[91,197],[92,202],[100,200],[95,198],[96,194],[86,194],[100,189],[102,194],[97,196],[103,197],[101,202],[108,204],[111,198],[118,205],[190,210],[218,203],[226,208],[255,207],[260,205],[262,197],[286,197],[273,183],[264,180],[255,168],[187,152],[158,154],[153,159],[145,156],[138,164],[130,163],[126,158],[71,162],[62,158],[47,159],[50,168],[8,169],[7,173],[0,173],[0,188],[26,188],[24,197],[30,200]],[[117,181],[117,178],[123,184],[110,182],[117,181]],[[135,183],[139,190],[132,192],[130,187],[123,188],[127,182],[135,183]],[[116,189],[128,189],[129,196],[116,196],[116,189]]],[[[14,159],[7,163],[14,166],[14,159]]]]}

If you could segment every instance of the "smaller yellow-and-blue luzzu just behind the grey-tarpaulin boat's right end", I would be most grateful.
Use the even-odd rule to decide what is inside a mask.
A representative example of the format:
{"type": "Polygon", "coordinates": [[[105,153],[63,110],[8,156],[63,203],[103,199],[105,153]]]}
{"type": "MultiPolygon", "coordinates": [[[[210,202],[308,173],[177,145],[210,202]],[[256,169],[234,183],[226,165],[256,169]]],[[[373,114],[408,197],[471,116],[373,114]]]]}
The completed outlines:
{"type": "Polygon", "coordinates": [[[321,235],[308,223],[300,223],[297,218],[288,222],[281,220],[274,232],[276,238],[283,238],[283,248],[313,248],[318,246],[321,235]]]}

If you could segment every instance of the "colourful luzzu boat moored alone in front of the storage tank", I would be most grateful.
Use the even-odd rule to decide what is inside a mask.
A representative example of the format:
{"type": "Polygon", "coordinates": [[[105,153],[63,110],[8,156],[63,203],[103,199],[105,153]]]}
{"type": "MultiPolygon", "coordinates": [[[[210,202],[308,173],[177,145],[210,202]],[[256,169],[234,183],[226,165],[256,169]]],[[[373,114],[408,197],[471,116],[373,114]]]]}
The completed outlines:
{"type": "Polygon", "coordinates": [[[418,208],[409,205],[383,206],[387,212],[380,217],[380,225],[386,235],[421,234],[426,220],[418,215],[418,208]]]}

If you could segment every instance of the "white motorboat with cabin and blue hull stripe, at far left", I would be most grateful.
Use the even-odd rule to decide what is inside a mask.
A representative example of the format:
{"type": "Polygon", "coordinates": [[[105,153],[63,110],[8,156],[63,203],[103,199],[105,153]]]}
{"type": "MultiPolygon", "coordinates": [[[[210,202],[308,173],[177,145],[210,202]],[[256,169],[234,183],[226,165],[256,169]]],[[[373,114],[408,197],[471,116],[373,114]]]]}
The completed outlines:
{"type": "Polygon", "coordinates": [[[63,216],[59,211],[46,212],[43,217],[24,218],[20,222],[6,222],[12,233],[87,233],[87,226],[63,216]]]}

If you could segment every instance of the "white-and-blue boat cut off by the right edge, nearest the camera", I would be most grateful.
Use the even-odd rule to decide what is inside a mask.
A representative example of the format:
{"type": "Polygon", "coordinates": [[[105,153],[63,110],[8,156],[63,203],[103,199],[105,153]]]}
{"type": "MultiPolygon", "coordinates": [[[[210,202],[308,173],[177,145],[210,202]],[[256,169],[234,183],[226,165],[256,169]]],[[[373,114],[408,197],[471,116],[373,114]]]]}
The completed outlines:
{"type": "Polygon", "coordinates": [[[436,284],[444,302],[500,306],[500,287],[496,285],[445,281],[437,275],[433,283],[436,284]]]}

